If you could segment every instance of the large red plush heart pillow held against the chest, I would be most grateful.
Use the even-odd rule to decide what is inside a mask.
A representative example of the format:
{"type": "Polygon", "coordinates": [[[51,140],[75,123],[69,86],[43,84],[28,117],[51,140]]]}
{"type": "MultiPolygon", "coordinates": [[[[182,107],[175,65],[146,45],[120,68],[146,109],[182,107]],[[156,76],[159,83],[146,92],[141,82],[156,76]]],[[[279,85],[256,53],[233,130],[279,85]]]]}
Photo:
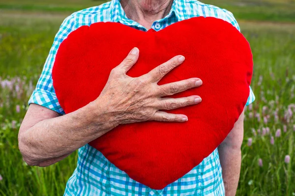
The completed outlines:
{"type": "Polygon", "coordinates": [[[140,55],[129,76],[148,73],[182,54],[185,61],[158,84],[199,77],[201,87],[170,97],[199,95],[203,100],[166,111],[187,115],[185,123],[123,124],[89,144],[132,179],[163,189],[202,162],[234,127],[249,96],[252,53],[233,25],[211,17],[147,32],[111,22],[82,26],[61,43],[52,72],[65,113],[95,100],[111,70],[133,47],[139,48],[140,55]]]}

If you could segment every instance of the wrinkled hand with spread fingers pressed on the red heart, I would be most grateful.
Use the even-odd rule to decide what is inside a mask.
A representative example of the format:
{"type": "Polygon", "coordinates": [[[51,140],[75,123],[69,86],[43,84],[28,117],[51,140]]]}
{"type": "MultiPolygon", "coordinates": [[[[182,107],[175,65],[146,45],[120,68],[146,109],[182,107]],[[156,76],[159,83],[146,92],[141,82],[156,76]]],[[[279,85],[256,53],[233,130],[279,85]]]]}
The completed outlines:
{"type": "Polygon", "coordinates": [[[118,124],[142,121],[187,121],[187,116],[183,114],[172,114],[159,110],[171,110],[197,104],[202,100],[199,96],[161,97],[201,86],[202,80],[190,78],[157,85],[165,74],[184,61],[181,55],[173,57],[140,77],[130,77],[126,75],[126,72],[136,63],[138,56],[139,49],[132,49],[127,57],[111,71],[104,89],[97,98],[100,103],[104,104],[104,108],[107,108],[106,112],[115,118],[118,124]]]}

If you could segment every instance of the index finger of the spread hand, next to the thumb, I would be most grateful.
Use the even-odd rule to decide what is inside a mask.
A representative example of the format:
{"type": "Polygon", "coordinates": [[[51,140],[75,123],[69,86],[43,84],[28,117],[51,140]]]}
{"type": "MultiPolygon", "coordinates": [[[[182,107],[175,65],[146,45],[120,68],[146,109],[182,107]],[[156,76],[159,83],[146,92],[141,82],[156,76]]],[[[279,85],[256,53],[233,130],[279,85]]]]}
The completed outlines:
{"type": "Polygon", "coordinates": [[[164,75],[170,72],[173,68],[177,67],[184,61],[184,56],[178,55],[170,59],[169,61],[159,65],[151,70],[148,74],[151,82],[158,82],[164,75]]]}

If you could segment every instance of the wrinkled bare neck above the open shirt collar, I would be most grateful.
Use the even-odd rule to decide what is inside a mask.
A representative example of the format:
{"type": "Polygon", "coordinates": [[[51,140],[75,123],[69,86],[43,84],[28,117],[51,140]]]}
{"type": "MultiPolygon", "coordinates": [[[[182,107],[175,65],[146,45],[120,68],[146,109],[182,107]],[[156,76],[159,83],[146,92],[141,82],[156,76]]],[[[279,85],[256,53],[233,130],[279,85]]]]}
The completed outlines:
{"type": "Polygon", "coordinates": [[[173,0],[120,0],[126,16],[150,29],[152,23],[169,14],[173,0]]]}

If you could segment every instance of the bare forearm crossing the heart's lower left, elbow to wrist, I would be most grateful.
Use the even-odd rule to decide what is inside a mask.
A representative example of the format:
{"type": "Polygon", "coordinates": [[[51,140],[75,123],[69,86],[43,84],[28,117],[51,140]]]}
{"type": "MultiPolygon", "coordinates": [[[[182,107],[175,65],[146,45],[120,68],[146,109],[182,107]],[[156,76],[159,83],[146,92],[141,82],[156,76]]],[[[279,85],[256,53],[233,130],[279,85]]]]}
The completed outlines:
{"type": "Polygon", "coordinates": [[[42,162],[51,165],[113,129],[116,122],[96,105],[89,103],[75,112],[40,121],[22,131],[19,148],[24,160],[29,165],[42,162]]]}

